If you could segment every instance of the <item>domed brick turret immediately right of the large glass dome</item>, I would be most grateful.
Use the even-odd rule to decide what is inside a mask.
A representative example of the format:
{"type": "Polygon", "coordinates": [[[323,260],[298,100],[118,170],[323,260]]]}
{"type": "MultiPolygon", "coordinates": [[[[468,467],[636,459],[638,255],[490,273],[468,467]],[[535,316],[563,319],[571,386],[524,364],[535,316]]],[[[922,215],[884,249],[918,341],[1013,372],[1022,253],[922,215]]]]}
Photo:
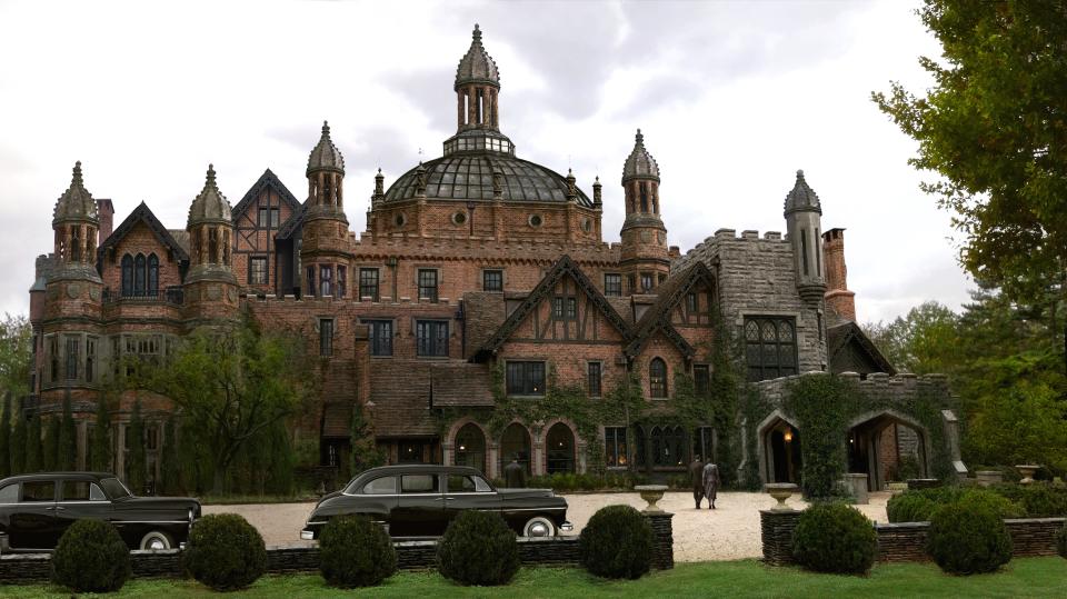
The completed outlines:
{"type": "Polygon", "coordinates": [[[670,273],[670,259],[667,228],[659,218],[659,166],[645,149],[640,129],[622,167],[622,271],[631,293],[649,293],[670,273]]]}

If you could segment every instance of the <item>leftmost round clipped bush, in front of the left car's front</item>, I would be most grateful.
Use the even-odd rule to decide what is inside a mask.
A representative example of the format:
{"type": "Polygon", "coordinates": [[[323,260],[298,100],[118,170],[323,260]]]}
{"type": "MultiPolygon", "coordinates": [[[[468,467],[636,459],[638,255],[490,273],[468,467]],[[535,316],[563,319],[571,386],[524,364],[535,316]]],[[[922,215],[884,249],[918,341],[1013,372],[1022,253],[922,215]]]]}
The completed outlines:
{"type": "Polygon", "coordinates": [[[130,549],[103,520],[70,525],[52,553],[52,582],[74,592],[117,591],[130,575],[130,549]]]}

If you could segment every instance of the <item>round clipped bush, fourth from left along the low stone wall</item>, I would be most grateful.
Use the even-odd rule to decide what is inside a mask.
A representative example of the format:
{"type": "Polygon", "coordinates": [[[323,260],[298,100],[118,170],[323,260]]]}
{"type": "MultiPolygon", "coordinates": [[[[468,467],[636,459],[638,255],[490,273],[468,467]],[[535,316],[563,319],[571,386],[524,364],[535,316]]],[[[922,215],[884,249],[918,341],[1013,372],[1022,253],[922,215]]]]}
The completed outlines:
{"type": "Polygon", "coordinates": [[[519,571],[515,531],[499,513],[462,511],[437,543],[441,576],[461,585],[507,585],[519,571]]]}

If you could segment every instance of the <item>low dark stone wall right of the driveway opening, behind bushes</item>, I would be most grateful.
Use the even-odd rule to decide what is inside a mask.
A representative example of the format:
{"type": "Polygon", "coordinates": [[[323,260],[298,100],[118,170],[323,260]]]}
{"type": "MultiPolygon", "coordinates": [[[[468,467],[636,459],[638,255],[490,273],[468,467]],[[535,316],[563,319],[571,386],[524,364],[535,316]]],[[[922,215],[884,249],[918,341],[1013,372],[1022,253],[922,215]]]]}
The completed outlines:
{"type": "MultiPolygon", "coordinates": [[[[795,563],[792,531],[800,519],[799,511],[759,512],[764,540],[764,561],[772,566],[795,563]]],[[[1064,518],[1019,518],[1004,521],[1011,536],[1011,555],[1017,558],[1055,556],[1056,535],[1064,528],[1064,518]]],[[[929,522],[899,522],[875,525],[878,536],[878,561],[928,561],[926,536],[929,522]]]]}

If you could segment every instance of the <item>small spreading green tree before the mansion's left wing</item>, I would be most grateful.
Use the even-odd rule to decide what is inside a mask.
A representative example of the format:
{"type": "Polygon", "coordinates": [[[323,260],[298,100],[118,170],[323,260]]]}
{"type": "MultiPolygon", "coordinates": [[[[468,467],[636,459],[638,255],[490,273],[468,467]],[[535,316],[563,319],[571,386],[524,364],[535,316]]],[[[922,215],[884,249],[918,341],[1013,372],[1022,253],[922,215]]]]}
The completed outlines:
{"type": "Polygon", "coordinates": [[[316,393],[303,338],[265,332],[247,316],[232,328],[201,328],[179,345],[146,385],[170,398],[210,451],[213,491],[246,443],[297,413],[316,393]]]}

